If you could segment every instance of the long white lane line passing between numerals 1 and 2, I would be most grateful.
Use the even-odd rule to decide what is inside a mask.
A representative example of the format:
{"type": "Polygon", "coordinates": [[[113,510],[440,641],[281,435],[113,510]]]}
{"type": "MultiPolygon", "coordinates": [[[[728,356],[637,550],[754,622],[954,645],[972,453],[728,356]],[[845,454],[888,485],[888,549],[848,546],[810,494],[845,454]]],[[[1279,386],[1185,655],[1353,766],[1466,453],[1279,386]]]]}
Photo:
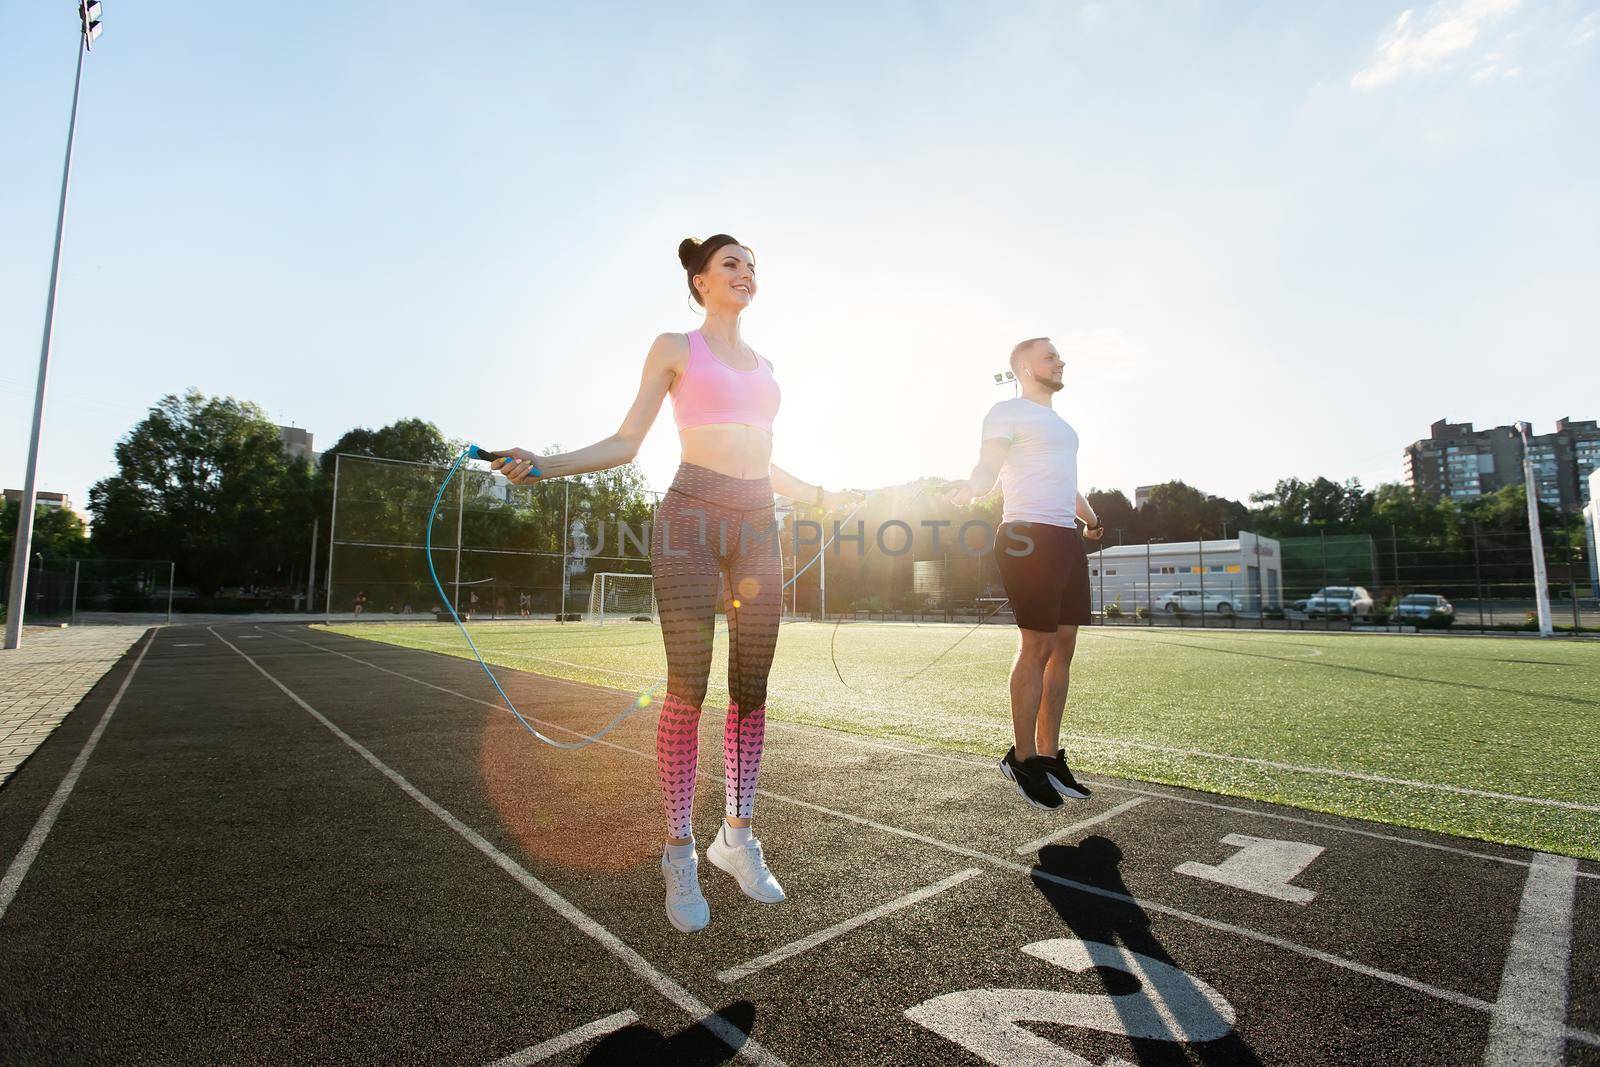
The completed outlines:
{"type": "MultiPolygon", "coordinates": [[[[307,648],[314,648],[317,651],[328,653],[331,656],[341,656],[342,659],[349,659],[354,664],[362,664],[363,667],[371,667],[373,670],[381,670],[382,673],[394,675],[397,678],[405,678],[406,681],[414,681],[416,685],[427,686],[429,689],[435,689],[438,693],[448,693],[450,696],[459,697],[459,699],[472,702],[472,704],[482,704],[483,707],[493,707],[496,710],[506,710],[502,704],[494,704],[491,701],[483,701],[483,699],[478,699],[475,696],[469,696],[466,693],[461,693],[458,689],[446,689],[442,685],[434,685],[432,681],[426,681],[422,678],[414,678],[414,677],[408,675],[408,673],[402,673],[398,670],[390,670],[389,667],[379,667],[378,664],[368,662],[365,659],[357,659],[355,656],[350,656],[347,653],[341,653],[341,651],[333,649],[333,648],[326,648],[325,645],[315,645],[312,641],[302,641],[302,640],[294,638],[294,637],[285,637],[283,640],[294,641],[298,645],[306,645],[307,648]]],[[[589,686],[589,688],[600,688],[600,686],[589,686]]],[[[602,689],[602,691],[605,691],[605,689],[602,689]]],[[[546,720],[546,718],[530,717],[530,721],[536,721],[536,723],[550,726],[552,729],[558,729],[558,731],[562,731],[565,734],[571,734],[573,737],[582,736],[579,731],[571,729],[570,726],[563,726],[560,723],[554,723],[554,721],[546,720]]],[[[643,752],[640,749],[630,749],[627,745],[622,745],[622,744],[618,744],[618,742],[608,741],[608,739],[600,739],[595,744],[605,745],[608,749],[616,749],[618,752],[629,752],[629,753],[632,753],[632,755],[635,755],[635,757],[638,757],[642,760],[654,761],[654,758],[656,758],[656,755],[653,752],[643,752]]],[[[723,782],[722,777],[717,777],[715,774],[707,774],[706,771],[701,771],[699,777],[704,777],[707,782],[723,782]]],[[[947,853],[954,853],[957,856],[966,856],[970,859],[979,859],[979,861],[982,861],[986,864],[994,864],[995,867],[1000,867],[1003,870],[1013,870],[1013,872],[1018,872],[1018,873],[1029,875],[1032,878],[1043,878],[1045,881],[1051,881],[1054,885],[1059,885],[1059,886],[1064,886],[1064,888],[1069,888],[1069,889],[1078,889],[1080,893],[1088,893],[1091,896],[1099,896],[1099,897],[1106,897],[1106,899],[1110,899],[1110,901],[1122,901],[1125,904],[1133,904],[1133,905],[1141,907],[1141,909],[1144,909],[1147,912],[1158,912],[1162,915],[1170,915],[1173,918],[1179,918],[1179,920],[1184,920],[1184,921],[1189,921],[1189,923],[1195,923],[1195,925],[1205,926],[1208,929],[1219,929],[1222,933],[1238,934],[1240,937],[1248,937],[1251,941],[1259,941],[1262,944],[1274,945],[1275,949],[1283,949],[1286,952],[1293,952],[1296,955],[1302,955],[1302,957],[1306,957],[1309,960],[1318,960],[1322,963],[1328,963],[1331,966],[1338,966],[1338,968],[1342,968],[1346,971],[1354,971],[1357,974],[1365,974],[1368,977],[1376,977],[1376,979],[1384,981],[1384,982],[1392,982],[1395,985],[1402,985],[1402,987],[1410,989],[1413,992],[1424,993],[1427,997],[1434,997],[1437,1000],[1443,1000],[1443,1001],[1448,1001],[1448,1003],[1453,1003],[1453,1005],[1459,1005],[1462,1008],[1472,1008],[1475,1011],[1483,1011],[1483,1013],[1490,1013],[1490,1011],[1494,1009],[1494,1005],[1491,1005],[1490,1001],[1482,1000],[1478,997],[1469,997],[1467,993],[1458,993],[1454,990],[1440,989],[1437,985],[1429,985],[1427,982],[1419,982],[1418,979],[1406,977],[1405,974],[1395,974],[1394,971],[1384,971],[1384,969],[1379,969],[1379,968],[1374,968],[1374,966],[1368,966],[1368,965],[1360,963],[1357,960],[1347,960],[1346,957],[1339,957],[1339,955],[1334,955],[1331,952],[1323,952],[1322,949],[1312,949],[1310,945],[1302,945],[1299,942],[1288,941],[1285,937],[1277,937],[1274,934],[1267,934],[1267,933],[1259,931],[1259,929],[1251,929],[1248,926],[1235,926],[1232,923],[1224,923],[1224,921],[1219,921],[1219,920],[1214,920],[1214,918],[1206,918],[1205,915],[1195,915],[1194,912],[1184,912],[1181,909],[1170,907],[1166,904],[1157,904],[1157,902],[1144,899],[1144,897],[1134,897],[1134,896],[1130,896],[1130,894],[1125,894],[1125,893],[1114,893],[1110,889],[1101,889],[1099,886],[1085,885],[1082,881],[1072,881],[1070,878],[1062,878],[1059,875],[1053,875],[1050,872],[1040,870],[1038,867],[1027,867],[1024,864],[1018,864],[1018,862],[1013,862],[1010,859],[1003,859],[1000,856],[990,856],[989,853],[979,853],[978,849],[965,848],[965,846],[955,845],[952,841],[941,841],[939,838],[926,837],[926,835],[917,833],[914,830],[902,830],[901,827],[886,825],[883,822],[874,822],[872,819],[864,819],[861,816],[853,816],[848,811],[838,811],[835,808],[824,808],[822,805],[814,805],[814,803],[811,803],[808,800],[798,800],[795,797],[784,797],[782,793],[774,793],[774,792],[771,792],[768,789],[757,790],[757,795],[768,797],[771,800],[776,800],[778,803],[790,805],[790,806],[795,806],[795,808],[806,808],[810,811],[816,811],[819,814],[832,816],[832,817],[842,819],[845,822],[854,822],[856,825],[864,825],[864,827],[870,827],[874,830],[882,830],[883,833],[893,833],[894,837],[902,837],[902,838],[910,840],[910,841],[920,841],[920,843],[928,845],[931,848],[939,848],[939,849],[944,849],[947,853]]],[[[1568,1040],[1582,1041],[1584,1045],[1592,1045],[1595,1048],[1600,1048],[1600,1033],[1592,1033],[1589,1030],[1579,1030],[1578,1027],[1565,1027],[1565,1035],[1566,1035],[1568,1040]]]]}

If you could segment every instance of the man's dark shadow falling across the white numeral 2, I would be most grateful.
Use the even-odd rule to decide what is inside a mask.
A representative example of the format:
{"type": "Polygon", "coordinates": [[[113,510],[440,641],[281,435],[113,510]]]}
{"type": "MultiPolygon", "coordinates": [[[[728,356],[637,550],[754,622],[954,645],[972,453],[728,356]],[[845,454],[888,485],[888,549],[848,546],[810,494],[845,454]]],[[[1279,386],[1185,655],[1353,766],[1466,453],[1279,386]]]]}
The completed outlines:
{"type": "MultiPolygon", "coordinates": [[[[1078,845],[1046,845],[1038,853],[1038,867],[1061,878],[1070,878],[1099,889],[1131,897],[1122,878],[1122,849],[1104,837],[1086,837],[1078,845]]],[[[1210,1041],[1186,1043],[1181,1037],[1128,1038],[1134,1057],[1146,1067],[1179,1067],[1194,1061],[1214,1067],[1261,1067],[1254,1049],[1245,1043],[1226,1019],[1221,1019],[1194,977],[1182,971],[1165,945],[1150,931],[1150,917],[1133,901],[1110,901],[1034,878],[1034,886],[1050,901],[1062,921],[1085,942],[1101,945],[1120,944],[1128,952],[1166,965],[1150,981],[1115,968],[1098,966],[1085,974],[1096,974],[1110,997],[1123,1029],[1147,1033],[1150,1011],[1146,1001],[1160,1005],[1173,1019],[1203,1030],[1227,1029],[1224,1037],[1210,1041]],[[1144,992],[1144,997],[1133,993],[1144,992]]]]}

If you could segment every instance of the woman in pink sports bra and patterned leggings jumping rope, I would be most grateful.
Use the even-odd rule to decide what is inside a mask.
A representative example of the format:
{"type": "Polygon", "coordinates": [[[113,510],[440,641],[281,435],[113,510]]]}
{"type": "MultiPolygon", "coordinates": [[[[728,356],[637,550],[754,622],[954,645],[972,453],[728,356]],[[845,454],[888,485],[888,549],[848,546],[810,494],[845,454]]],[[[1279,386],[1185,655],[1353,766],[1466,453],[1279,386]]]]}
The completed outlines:
{"type": "Polygon", "coordinates": [[[664,397],[672,397],[683,462],[656,512],[650,541],[667,693],[656,725],[656,765],[667,809],[661,872],[667,921],[683,933],[710,921],[699,888],[690,816],[699,755],[699,715],[710,675],[717,597],[728,614],[728,718],[723,734],[726,801],[706,859],[733,875],[746,896],[778,904],[784,889],[766,869],[750,829],[766,729],[766,675],[778,645],[782,565],[773,528],[773,493],[842,509],[858,498],[827,493],[773,464],[778,382],[773,365],[739,336],[739,315],[755,299],[755,256],[726,234],[678,245],[690,296],[706,323],[664,333],[650,346],[634,406],[616,434],[571,453],[534,456],[506,450],[494,467],[515,483],[619,467],[638,454],[664,397]],[[538,464],[541,475],[531,475],[538,464]],[[765,536],[763,536],[765,534],[765,536]]]}

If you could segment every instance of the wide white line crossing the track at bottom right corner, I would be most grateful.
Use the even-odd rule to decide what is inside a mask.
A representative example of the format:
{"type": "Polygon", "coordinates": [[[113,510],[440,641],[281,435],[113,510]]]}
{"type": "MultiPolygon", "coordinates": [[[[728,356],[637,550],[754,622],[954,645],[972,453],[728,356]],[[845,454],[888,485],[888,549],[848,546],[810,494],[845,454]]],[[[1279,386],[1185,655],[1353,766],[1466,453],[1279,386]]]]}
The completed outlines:
{"type": "Polygon", "coordinates": [[[1563,1033],[1552,1025],[1566,1022],[1576,889],[1576,859],[1533,857],[1483,1053],[1486,1067],[1557,1067],[1565,1059],[1563,1033]]]}

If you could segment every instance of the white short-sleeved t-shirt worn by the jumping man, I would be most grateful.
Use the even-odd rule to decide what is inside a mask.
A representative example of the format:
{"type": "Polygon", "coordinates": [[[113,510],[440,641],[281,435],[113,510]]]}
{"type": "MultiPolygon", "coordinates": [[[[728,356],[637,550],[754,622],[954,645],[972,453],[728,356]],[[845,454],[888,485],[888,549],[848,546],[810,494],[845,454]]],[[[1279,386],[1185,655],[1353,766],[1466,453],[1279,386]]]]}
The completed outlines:
{"type": "Polygon", "coordinates": [[[1053,408],[1026,397],[1002,400],[984,416],[982,440],[1011,442],[1000,467],[1006,523],[1077,525],[1078,434],[1053,408]]]}

